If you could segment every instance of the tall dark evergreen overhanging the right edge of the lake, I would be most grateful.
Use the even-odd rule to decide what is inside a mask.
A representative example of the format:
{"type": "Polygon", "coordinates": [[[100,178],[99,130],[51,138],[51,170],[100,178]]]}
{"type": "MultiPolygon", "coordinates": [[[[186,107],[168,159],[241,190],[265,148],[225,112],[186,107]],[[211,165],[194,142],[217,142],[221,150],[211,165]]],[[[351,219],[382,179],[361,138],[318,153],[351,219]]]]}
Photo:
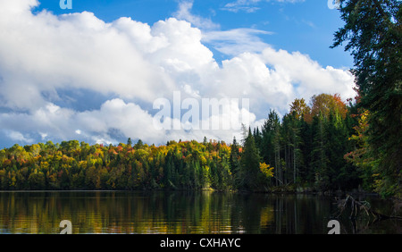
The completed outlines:
{"type": "Polygon", "coordinates": [[[335,33],[332,47],[348,42],[355,59],[360,105],[370,111],[367,130],[377,189],[383,196],[402,195],[402,2],[398,0],[340,0],[346,22],[335,33]]]}

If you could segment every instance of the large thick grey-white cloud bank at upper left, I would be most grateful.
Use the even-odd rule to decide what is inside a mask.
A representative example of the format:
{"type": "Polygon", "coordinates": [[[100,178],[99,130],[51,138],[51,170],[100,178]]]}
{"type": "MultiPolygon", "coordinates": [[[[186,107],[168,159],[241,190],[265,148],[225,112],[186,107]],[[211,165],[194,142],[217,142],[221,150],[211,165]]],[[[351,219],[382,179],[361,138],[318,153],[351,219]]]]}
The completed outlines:
{"type": "MultiPolygon", "coordinates": [[[[0,10],[3,105],[35,109],[46,103],[43,92],[57,88],[88,88],[149,101],[158,95],[155,90],[172,84],[144,59],[140,43],[121,32],[122,21],[105,23],[87,12],[54,16],[25,10],[16,15],[8,6],[0,10]]],[[[152,49],[168,46],[161,39],[147,42],[152,49]]]]}

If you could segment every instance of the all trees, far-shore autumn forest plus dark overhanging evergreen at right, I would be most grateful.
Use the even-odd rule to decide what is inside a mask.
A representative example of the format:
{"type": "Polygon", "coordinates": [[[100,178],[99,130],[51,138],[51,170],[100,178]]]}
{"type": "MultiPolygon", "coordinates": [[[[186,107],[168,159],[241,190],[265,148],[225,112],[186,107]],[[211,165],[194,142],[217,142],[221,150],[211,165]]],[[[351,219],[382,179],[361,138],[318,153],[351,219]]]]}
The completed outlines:
{"type": "MultiPolygon", "coordinates": [[[[331,47],[354,58],[357,96],[295,99],[231,143],[78,140],[0,150],[0,189],[361,189],[402,197],[402,3],[340,0],[331,47]]],[[[177,140],[177,139],[176,139],[177,140]]]]}

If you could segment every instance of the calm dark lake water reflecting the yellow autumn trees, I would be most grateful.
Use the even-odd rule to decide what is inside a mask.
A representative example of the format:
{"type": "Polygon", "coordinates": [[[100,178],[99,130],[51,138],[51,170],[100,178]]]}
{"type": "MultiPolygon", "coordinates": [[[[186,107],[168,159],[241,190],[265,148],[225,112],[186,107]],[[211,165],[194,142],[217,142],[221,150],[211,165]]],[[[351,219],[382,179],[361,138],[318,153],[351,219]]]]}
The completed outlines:
{"type": "MultiPolygon", "coordinates": [[[[388,202],[369,198],[377,211],[388,202]]],[[[0,233],[325,234],[333,197],[212,191],[4,191],[0,233]]],[[[402,233],[402,221],[339,219],[340,233],[402,233]]]]}

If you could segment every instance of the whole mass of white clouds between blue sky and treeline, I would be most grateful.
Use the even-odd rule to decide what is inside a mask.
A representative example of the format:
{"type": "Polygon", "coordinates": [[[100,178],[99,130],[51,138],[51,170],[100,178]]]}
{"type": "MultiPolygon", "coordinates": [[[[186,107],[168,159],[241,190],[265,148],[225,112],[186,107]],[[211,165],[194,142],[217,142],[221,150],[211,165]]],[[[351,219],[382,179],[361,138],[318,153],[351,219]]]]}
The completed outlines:
{"type": "Polygon", "coordinates": [[[105,22],[88,12],[34,14],[38,2],[32,0],[0,4],[0,139],[9,145],[239,137],[239,123],[229,130],[188,128],[181,122],[188,108],[179,117],[167,116],[180,129],[153,127],[155,100],[172,104],[174,91],[180,101],[193,98],[200,105],[203,99],[246,98],[249,106],[234,104],[199,120],[227,122],[244,115],[252,126],[261,125],[270,108],[286,113],[296,97],[354,96],[348,71],[273,49],[259,38],[267,31],[208,26],[189,12],[192,2],[181,2],[176,18],[152,25],[127,17],[105,22]],[[228,58],[217,63],[208,46],[228,58]]]}

